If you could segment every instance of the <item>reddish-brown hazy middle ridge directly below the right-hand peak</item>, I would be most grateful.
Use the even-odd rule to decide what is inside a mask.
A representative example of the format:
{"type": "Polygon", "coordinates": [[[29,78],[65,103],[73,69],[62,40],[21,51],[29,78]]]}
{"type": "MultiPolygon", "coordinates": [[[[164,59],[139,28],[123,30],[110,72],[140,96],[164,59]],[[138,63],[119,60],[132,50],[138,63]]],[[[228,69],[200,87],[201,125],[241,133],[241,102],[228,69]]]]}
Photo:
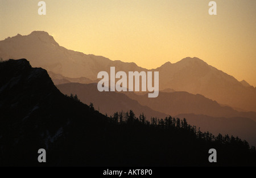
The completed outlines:
{"type": "Polygon", "coordinates": [[[129,98],[137,100],[141,105],[154,108],[155,111],[176,116],[184,113],[208,115],[212,117],[248,117],[256,121],[255,112],[238,112],[231,107],[221,106],[216,101],[205,98],[203,95],[193,95],[184,91],[159,92],[154,100],[147,94],[136,95],[133,92],[124,92],[129,98]]]}

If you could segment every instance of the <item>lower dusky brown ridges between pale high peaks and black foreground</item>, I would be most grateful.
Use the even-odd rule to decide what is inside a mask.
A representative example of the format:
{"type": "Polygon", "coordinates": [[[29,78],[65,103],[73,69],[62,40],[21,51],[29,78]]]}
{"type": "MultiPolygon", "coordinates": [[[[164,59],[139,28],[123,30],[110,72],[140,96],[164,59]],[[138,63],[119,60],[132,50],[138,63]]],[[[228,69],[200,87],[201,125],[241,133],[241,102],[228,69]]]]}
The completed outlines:
{"type": "Polygon", "coordinates": [[[203,132],[238,135],[251,145],[256,145],[255,112],[238,112],[202,95],[175,91],[160,92],[158,98],[151,100],[147,94],[99,92],[97,83],[65,83],[56,87],[63,94],[76,94],[82,103],[93,103],[97,110],[108,116],[117,111],[127,112],[130,108],[136,116],[143,113],[148,121],[151,117],[164,118],[169,115],[186,118],[189,124],[196,125],[203,132]]]}

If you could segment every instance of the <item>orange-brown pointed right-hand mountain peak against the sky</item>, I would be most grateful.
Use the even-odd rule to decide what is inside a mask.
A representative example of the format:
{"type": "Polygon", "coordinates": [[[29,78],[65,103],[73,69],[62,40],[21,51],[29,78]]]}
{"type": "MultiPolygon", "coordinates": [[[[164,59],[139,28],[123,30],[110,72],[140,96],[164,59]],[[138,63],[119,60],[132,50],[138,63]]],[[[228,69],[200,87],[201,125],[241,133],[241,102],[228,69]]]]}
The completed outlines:
{"type": "Polygon", "coordinates": [[[172,88],[201,94],[220,104],[256,111],[255,88],[243,86],[234,77],[199,58],[187,57],[176,63],[167,62],[155,70],[159,71],[159,81],[164,81],[159,85],[160,90],[172,88]]]}

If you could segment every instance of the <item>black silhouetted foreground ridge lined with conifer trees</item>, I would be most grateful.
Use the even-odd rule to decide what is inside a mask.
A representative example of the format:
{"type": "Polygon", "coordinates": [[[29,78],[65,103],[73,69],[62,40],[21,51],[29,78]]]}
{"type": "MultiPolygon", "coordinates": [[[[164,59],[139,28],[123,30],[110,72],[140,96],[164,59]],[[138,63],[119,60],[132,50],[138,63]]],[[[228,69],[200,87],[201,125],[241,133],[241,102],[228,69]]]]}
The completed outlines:
{"type": "Polygon", "coordinates": [[[61,94],[25,59],[1,62],[0,76],[0,166],[256,166],[246,141],[198,132],[179,118],[106,117],[61,94]],[[212,148],[217,163],[208,161],[212,148]]]}

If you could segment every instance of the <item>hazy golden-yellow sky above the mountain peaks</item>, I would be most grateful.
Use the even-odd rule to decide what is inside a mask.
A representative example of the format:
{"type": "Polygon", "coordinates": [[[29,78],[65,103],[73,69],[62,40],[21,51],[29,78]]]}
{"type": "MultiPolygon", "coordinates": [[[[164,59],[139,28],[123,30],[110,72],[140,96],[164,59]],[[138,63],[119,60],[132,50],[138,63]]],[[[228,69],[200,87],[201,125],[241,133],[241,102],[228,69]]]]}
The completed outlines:
{"type": "Polygon", "coordinates": [[[147,69],[185,57],[256,86],[256,1],[0,0],[0,40],[47,31],[65,48],[147,69]]]}

